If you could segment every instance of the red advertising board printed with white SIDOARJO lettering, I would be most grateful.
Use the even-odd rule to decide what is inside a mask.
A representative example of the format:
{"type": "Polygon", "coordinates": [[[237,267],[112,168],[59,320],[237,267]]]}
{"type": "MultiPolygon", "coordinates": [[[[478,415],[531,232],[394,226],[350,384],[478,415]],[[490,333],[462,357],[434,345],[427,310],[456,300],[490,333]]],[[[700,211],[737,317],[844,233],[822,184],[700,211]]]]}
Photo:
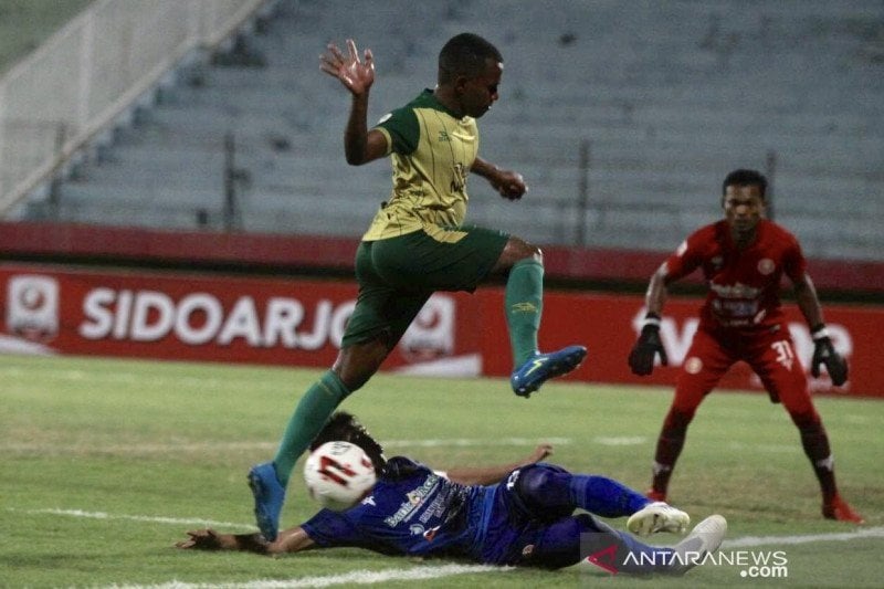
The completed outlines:
{"type": "MultiPolygon", "coordinates": [[[[347,282],[0,265],[0,351],[330,366],[347,282]]],[[[475,307],[433,296],[386,367],[480,374],[475,307]]]]}

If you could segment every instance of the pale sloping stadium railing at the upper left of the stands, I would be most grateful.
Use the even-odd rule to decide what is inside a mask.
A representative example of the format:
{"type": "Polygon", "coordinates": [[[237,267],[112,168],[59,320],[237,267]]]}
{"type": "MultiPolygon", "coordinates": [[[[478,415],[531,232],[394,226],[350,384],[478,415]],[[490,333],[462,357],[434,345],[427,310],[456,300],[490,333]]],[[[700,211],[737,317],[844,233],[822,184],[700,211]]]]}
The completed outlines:
{"type": "Polygon", "coordinates": [[[0,80],[0,213],[267,0],[98,0],[0,80]]]}

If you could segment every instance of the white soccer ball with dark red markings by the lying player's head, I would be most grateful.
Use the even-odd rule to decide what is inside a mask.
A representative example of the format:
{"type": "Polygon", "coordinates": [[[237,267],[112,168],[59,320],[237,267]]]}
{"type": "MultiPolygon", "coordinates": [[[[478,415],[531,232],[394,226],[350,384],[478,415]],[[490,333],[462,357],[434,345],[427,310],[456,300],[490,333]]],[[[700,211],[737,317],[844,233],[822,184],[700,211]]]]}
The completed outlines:
{"type": "Polygon", "coordinates": [[[311,497],[323,507],[343,512],[356,505],[377,480],[365,451],[349,442],[326,442],[304,464],[311,497]]]}

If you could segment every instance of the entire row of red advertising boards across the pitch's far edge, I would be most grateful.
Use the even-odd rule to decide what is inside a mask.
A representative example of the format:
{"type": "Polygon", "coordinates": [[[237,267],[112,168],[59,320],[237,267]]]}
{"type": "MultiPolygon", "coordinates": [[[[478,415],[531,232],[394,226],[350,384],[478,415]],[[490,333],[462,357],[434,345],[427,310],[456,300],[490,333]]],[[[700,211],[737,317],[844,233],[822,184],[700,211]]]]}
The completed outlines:
{"type": "MultiPolygon", "coordinates": [[[[386,370],[439,376],[508,376],[512,357],[503,290],[433,295],[385,364],[386,370]]],[[[231,277],[181,272],[71,270],[0,265],[0,354],[70,354],[288,366],[330,366],[356,301],[341,281],[231,277]]],[[[661,326],[670,358],[650,377],[635,377],[627,356],[644,316],[642,297],[547,292],[541,349],[589,348],[567,379],[672,386],[696,330],[699,299],[672,298],[661,326]]],[[[797,308],[787,307],[799,358],[813,351],[797,308]]],[[[884,396],[874,336],[884,309],[825,305],[835,347],[850,360],[850,381],[818,392],[884,396]]],[[[761,390],[745,365],[723,388],[761,390]]]]}

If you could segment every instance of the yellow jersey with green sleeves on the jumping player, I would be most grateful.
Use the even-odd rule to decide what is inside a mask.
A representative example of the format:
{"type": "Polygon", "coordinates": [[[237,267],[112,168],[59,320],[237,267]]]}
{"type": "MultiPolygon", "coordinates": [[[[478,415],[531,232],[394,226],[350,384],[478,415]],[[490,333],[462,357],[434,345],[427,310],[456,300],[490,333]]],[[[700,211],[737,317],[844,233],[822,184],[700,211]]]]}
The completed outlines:
{"type": "Polygon", "coordinates": [[[375,128],[390,146],[393,187],[362,241],[460,227],[469,200],[466,177],[478,152],[475,119],[456,118],[424,90],[375,128]]]}

